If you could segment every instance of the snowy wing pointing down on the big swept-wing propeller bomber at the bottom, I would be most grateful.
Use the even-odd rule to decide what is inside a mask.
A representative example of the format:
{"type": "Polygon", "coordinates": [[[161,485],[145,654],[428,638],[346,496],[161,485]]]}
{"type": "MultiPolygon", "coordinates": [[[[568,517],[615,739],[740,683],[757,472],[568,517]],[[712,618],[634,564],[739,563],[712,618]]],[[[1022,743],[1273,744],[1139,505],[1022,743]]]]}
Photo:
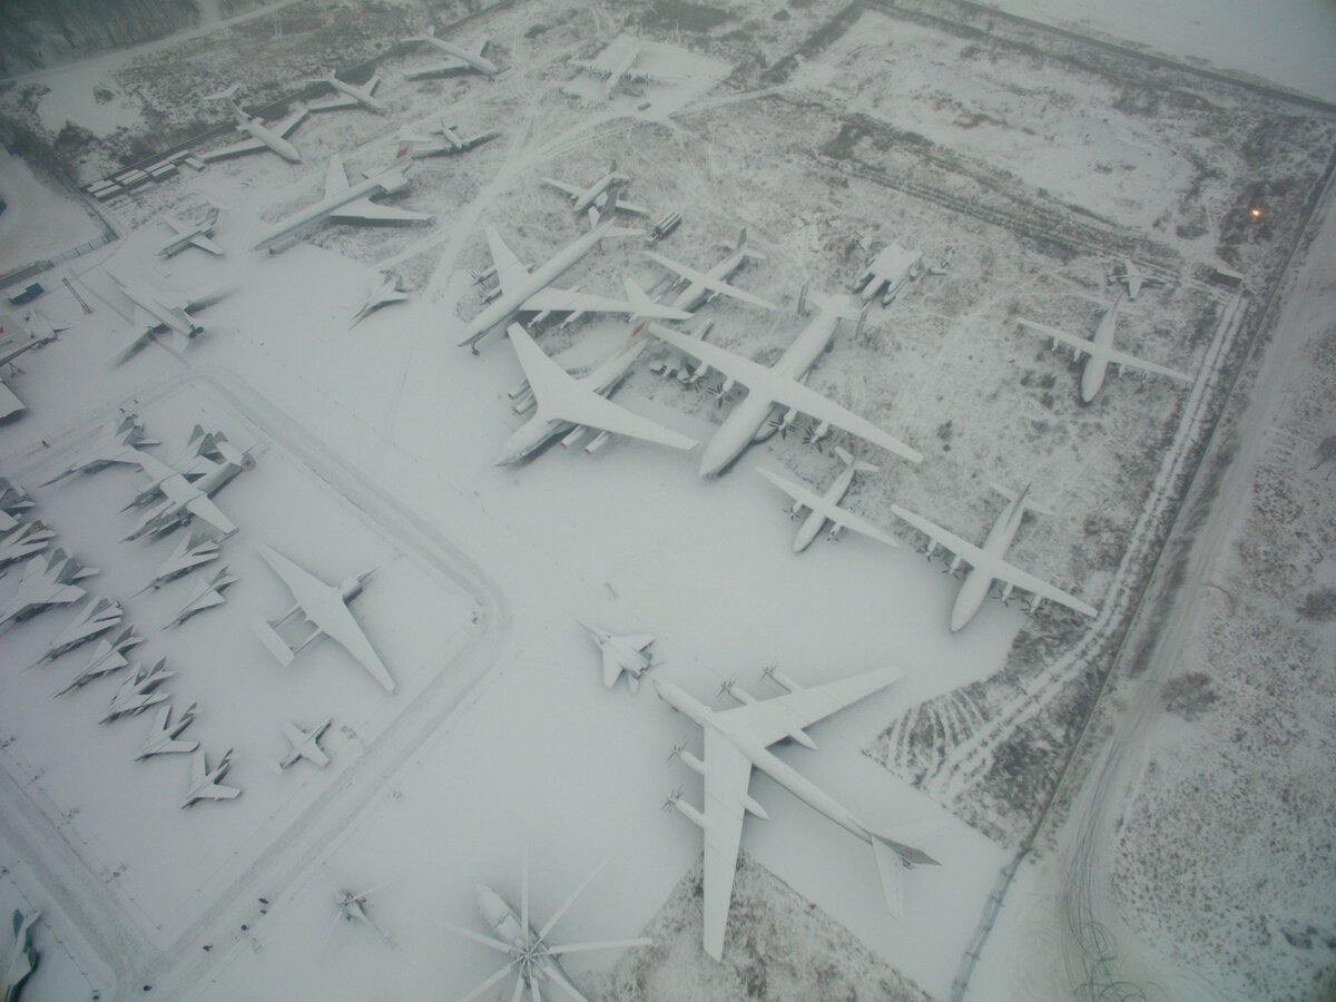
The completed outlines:
{"type": "Polygon", "coordinates": [[[752,763],[727,737],[705,728],[704,810],[704,921],[705,953],[719,959],[724,953],[728,906],[733,898],[737,847],[743,839],[743,798],[751,784],[752,763]]]}

